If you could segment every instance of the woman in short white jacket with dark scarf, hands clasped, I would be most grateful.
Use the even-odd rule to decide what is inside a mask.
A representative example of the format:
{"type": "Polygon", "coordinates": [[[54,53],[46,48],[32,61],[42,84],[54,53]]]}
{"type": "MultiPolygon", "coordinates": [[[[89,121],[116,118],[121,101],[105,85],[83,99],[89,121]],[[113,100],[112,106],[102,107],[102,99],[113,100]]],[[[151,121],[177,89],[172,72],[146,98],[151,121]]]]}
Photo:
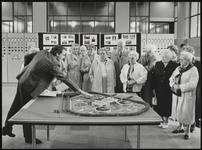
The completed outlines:
{"type": "Polygon", "coordinates": [[[139,54],[130,51],[128,64],[121,69],[120,80],[123,83],[124,92],[134,92],[141,96],[142,85],[147,80],[147,70],[137,62],[139,54]]]}

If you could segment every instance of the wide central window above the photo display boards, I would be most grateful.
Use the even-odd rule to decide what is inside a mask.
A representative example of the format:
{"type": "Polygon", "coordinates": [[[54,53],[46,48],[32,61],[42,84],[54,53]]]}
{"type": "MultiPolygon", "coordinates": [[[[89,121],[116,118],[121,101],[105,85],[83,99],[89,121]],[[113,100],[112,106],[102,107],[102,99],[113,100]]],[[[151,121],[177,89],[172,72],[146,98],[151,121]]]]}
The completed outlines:
{"type": "Polygon", "coordinates": [[[114,2],[48,2],[48,32],[114,32],[114,2]]]}

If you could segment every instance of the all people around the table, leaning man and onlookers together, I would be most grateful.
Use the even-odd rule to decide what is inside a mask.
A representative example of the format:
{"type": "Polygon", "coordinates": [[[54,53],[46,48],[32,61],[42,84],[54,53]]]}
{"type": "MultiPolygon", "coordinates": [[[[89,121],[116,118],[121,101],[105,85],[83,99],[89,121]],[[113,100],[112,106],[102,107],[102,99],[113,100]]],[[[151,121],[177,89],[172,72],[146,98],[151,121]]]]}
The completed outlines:
{"type": "MultiPolygon", "coordinates": [[[[69,86],[69,90],[79,91],[88,97],[92,97],[87,93],[90,91],[136,93],[162,117],[159,127],[167,128],[169,117],[178,121],[179,127],[173,133],[185,132],[184,139],[190,138],[190,131],[199,126],[200,62],[195,59],[194,49],[188,44],[181,45],[180,52],[176,45],[171,45],[162,50],[161,55],[157,53],[155,45],[148,44],[145,54],[140,58],[137,51],[126,49],[123,39],[118,40],[117,50],[110,55],[104,47],[96,52],[93,44],[73,44],[72,52],[68,55],[63,49],[63,46],[54,46],[50,52],[44,50],[28,55],[31,56],[30,65],[26,63],[27,66],[18,75],[18,89],[3,128],[3,135],[14,137],[8,119],[50,84],[54,89],[61,82],[69,86]],[[152,103],[154,97],[157,100],[155,105],[152,103]],[[16,108],[19,101],[23,103],[16,108]]],[[[26,129],[24,125],[27,143],[32,143],[30,129],[31,127],[26,129]]],[[[41,143],[38,139],[37,142],[41,143]]]]}

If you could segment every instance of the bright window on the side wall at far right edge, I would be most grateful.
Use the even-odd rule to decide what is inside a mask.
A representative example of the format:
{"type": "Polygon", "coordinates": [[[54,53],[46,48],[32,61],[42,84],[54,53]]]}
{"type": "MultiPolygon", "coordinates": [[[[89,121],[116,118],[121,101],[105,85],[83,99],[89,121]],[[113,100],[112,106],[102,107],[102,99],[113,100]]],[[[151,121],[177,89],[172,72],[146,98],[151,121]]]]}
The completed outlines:
{"type": "Polygon", "coordinates": [[[200,5],[201,2],[190,2],[191,14],[190,14],[190,38],[200,37],[201,25],[200,25],[200,5]]]}

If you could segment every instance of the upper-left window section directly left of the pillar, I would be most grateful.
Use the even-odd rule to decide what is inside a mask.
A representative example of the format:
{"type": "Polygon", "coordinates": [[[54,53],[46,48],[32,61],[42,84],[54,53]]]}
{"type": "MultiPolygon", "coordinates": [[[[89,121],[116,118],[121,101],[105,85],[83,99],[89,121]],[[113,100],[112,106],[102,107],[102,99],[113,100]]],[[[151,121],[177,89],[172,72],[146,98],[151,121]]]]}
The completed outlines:
{"type": "Polygon", "coordinates": [[[32,32],[32,2],[13,2],[14,32],[32,32]]]}

